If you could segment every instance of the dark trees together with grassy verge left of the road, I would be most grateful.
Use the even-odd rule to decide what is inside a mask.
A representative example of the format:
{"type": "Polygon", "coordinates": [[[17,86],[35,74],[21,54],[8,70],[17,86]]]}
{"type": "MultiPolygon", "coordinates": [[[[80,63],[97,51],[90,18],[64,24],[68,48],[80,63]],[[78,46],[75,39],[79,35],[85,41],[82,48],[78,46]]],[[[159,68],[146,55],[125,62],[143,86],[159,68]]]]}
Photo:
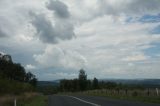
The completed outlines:
{"type": "Polygon", "coordinates": [[[45,106],[46,97],[37,92],[37,78],[26,72],[10,55],[0,54],[0,106],[45,106]]]}

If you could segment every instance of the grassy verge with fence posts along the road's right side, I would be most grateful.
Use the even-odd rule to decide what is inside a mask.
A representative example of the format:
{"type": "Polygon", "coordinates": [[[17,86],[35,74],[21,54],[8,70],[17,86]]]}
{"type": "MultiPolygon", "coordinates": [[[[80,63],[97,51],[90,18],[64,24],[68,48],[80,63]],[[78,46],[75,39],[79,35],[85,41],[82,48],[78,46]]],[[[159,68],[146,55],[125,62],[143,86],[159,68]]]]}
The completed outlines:
{"type": "Polygon", "coordinates": [[[98,89],[98,90],[89,90],[83,92],[68,92],[68,95],[90,95],[90,96],[103,96],[106,98],[112,99],[120,99],[120,100],[130,100],[130,101],[139,101],[146,103],[159,103],[160,104],[160,96],[156,94],[155,89],[150,91],[152,95],[148,95],[145,90],[128,90],[126,94],[124,90],[108,90],[108,89],[98,89]],[[118,93],[119,92],[119,93],[118,93]]]}

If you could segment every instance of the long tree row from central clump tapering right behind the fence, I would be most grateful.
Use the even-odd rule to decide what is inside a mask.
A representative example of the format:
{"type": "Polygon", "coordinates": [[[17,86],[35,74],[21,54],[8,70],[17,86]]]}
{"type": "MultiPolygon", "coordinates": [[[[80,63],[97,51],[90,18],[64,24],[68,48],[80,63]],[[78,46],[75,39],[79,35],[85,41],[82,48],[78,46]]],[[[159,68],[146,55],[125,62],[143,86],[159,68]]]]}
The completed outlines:
{"type": "MultiPolygon", "coordinates": [[[[134,86],[135,88],[143,89],[141,86],[134,86]]],[[[92,80],[87,79],[87,74],[85,70],[81,69],[79,71],[78,78],[75,79],[63,79],[60,81],[59,91],[61,92],[76,92],[94,89],[115,89],[119,91],[120,89],[128,90],[134,89],[133,86],[116,83],[116,82],[105,82],[99,81],[96,77],[92,80]]]]}

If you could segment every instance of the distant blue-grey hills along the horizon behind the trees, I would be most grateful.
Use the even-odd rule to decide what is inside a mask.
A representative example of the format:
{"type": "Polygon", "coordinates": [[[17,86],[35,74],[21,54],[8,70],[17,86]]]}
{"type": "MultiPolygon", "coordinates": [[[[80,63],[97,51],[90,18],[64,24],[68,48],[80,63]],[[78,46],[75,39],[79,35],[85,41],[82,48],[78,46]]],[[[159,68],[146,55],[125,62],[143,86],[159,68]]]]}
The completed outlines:
{"type": "MultiPolygon", "coordinates": [[[[141,85],[144,87],[160,87],[160,79],[100,79],[99,81],[141,85]]],[[[58,86],[59,83],[60,80],[38,81],[38,86],[58,86]]]]}

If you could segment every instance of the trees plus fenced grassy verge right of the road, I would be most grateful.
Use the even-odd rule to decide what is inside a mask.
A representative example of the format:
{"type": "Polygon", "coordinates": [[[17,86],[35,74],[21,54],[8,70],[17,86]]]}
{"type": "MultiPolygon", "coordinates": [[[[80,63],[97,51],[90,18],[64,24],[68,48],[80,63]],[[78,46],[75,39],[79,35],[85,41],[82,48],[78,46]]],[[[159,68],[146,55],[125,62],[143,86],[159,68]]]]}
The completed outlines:
{"type": "Polygon", "coordinates": [[[133,100],[150,103],[160,103],[158,88],[146,88],[142,85],[129,85],[115,82],[87,79],[83,69],[79,71],[78,79],[60,81],[59,91],[69,95],[104,96],[114,99],[133,100]]]}

